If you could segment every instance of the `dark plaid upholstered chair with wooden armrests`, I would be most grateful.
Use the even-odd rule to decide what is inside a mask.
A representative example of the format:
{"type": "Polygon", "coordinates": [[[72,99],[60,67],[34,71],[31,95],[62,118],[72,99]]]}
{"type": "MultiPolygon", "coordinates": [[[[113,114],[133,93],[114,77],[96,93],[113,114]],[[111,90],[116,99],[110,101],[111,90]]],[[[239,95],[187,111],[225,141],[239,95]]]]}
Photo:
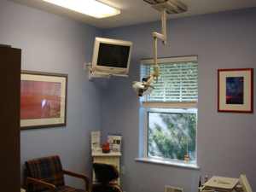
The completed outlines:
{"type": "Polygon", "coordinates": [[[90,192],[90,179],[62,169],[59,156],[28,160],[26,166],[27,192],[90,192]],[[64,174],[84,180],[85,190],[65,185],[64,174]]]}

